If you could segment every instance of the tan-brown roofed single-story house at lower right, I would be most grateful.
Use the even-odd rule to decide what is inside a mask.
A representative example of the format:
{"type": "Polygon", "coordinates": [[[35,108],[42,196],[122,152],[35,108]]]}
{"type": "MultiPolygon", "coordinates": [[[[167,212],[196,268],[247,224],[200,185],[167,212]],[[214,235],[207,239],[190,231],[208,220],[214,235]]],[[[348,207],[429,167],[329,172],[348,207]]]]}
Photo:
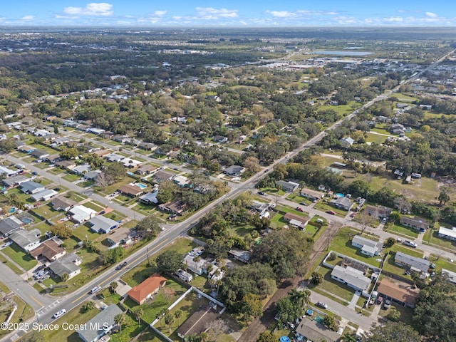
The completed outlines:
{"type": "Polygon", "coordinates": [[[410,284],[400,281],[393,283],[393,281],[387,278],[380,280],[377,289],[378,294],[383,298],[390,299],[403,306],[409,306],[410,308],[415,307],[418,291],[418,289],[413,288],[410,284]]]}

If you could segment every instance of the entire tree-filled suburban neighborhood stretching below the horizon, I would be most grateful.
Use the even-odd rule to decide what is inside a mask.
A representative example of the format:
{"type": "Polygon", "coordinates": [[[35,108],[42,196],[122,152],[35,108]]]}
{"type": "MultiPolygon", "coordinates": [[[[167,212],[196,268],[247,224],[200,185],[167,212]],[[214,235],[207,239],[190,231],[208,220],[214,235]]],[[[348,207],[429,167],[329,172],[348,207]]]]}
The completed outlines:
{"type": "Polygon", "coordinates": [[[93,30],[0,30],[0,339],[455,341],[450,33],[93,30]]]}

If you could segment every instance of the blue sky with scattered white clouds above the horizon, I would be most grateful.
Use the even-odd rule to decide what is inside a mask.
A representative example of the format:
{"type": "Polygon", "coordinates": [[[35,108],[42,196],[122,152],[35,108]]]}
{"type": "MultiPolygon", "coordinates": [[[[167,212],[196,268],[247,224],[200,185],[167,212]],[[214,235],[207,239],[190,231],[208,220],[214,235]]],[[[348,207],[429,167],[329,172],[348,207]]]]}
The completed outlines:
{"type": "Polygon", "coordinates": [[[0,26],[456,26],[454,0],[4,0],[0,26]]]}

